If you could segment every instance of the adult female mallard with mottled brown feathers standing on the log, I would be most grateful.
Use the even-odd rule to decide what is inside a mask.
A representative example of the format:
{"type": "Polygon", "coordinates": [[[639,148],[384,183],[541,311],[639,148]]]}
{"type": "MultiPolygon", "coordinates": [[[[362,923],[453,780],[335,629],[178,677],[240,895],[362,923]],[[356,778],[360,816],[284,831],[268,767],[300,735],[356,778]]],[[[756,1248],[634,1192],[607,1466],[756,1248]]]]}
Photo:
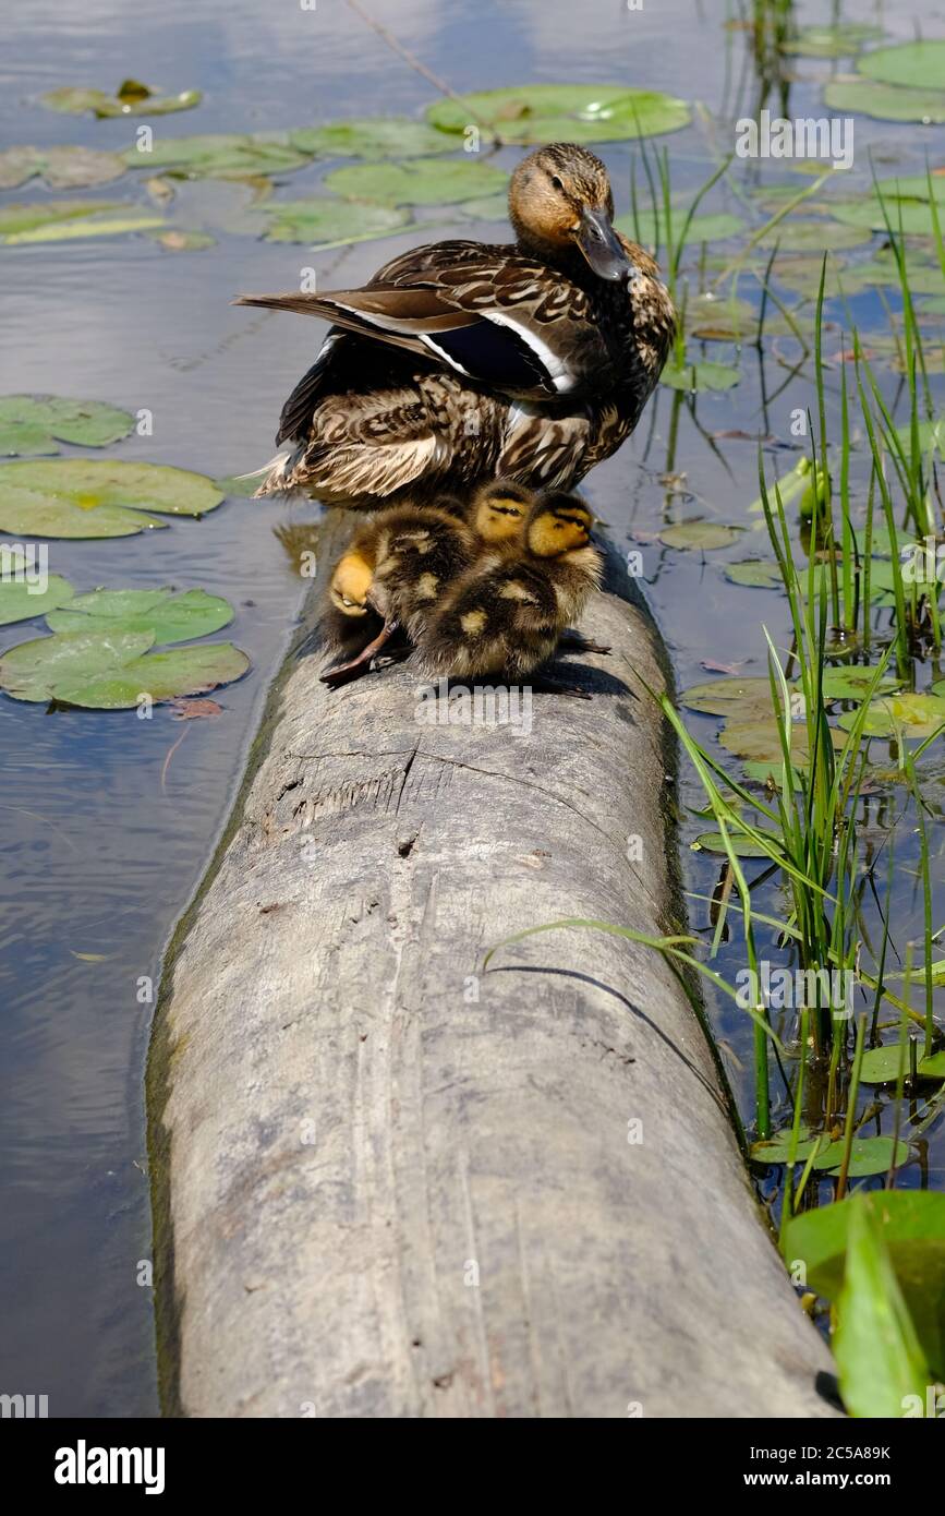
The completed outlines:
{"type": "Polygon", "coordinates": [[[571,490],[619,447],[672,344],[659,270],[613,229],[607,170],[572,143],[518,165],[509,217],[513,244],[416,247],[363,290],[241,296],[333,323],[257,494],[377,509],[494,475],[571,490]]]}

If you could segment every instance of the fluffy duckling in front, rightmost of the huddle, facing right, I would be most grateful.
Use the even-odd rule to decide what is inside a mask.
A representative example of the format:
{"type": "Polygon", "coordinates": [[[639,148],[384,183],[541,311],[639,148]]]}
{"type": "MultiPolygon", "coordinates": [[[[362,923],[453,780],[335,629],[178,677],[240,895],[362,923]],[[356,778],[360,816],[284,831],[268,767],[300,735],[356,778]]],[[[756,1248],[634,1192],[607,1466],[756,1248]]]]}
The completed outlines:
{"type": "MultiPolygon", "coordinates": [[[[524,543],[483,553],[429,622],[418,655],[424,675],[503,675],[509,681],[533,675],[600,585],[603,559],[591,546],[592,522],[577,496],[541,496],[524,543]]],[[[562,694],[585,696],[545,678],[541,682],[562,694]]]]}

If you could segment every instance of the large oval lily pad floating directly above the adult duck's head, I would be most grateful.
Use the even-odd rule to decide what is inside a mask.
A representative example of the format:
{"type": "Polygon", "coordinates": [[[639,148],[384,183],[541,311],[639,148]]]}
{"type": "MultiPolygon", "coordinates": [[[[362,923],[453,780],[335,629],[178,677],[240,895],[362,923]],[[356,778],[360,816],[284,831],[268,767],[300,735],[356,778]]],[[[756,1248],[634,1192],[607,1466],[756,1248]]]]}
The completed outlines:
{"type": "Polygon", "coordinates": [[[685,100],[625,85],[516,85],[462,100],[436,100],[427,121],[441,132],[485,123],[506,143],[619,143],[689,126],[685,100]]]}

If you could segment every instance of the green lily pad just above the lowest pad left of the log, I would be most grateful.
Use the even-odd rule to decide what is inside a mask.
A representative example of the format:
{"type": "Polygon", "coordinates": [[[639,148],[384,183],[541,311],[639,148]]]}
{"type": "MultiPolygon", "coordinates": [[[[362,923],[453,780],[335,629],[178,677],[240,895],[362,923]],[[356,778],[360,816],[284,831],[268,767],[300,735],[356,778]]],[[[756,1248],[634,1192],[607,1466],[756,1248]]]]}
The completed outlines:
{"type": "Polygon", "coordinates": [[[206,590],[92,590],[45,620],[53,632],[150,632],[154,643],[186,643],[229,626],[233,606],[206,590]]]}

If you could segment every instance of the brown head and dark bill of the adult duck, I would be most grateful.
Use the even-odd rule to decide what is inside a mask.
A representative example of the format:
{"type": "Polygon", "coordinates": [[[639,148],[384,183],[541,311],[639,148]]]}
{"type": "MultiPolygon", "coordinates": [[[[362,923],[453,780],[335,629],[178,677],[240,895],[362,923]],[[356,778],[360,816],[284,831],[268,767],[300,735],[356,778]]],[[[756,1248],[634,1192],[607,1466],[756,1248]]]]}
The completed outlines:
{"type": "Polygon", "coordinates": [[[530,153],[509,185],[509,218],[519,246],[548,262],[577,249],[598,279],[627,279],[638,267],[613,230],[613,193],[600,158],[575,143],[530,153]]]}

